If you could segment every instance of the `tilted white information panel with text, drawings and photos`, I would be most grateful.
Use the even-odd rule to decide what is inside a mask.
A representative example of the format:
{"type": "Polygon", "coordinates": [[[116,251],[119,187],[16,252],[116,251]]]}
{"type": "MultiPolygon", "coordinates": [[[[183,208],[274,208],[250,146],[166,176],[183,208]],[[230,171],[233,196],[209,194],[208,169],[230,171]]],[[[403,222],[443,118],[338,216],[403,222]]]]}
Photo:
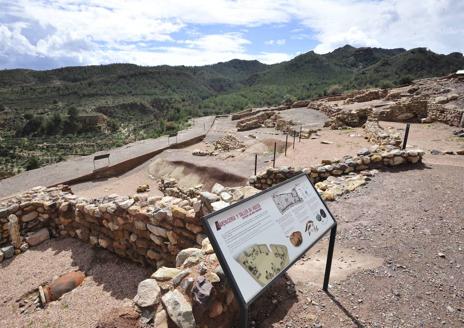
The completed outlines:
{"type": "Polygon", "coordinates": [[[335,224],[305,175],[213,213],[206,224],[246,303],[335,224]]]}

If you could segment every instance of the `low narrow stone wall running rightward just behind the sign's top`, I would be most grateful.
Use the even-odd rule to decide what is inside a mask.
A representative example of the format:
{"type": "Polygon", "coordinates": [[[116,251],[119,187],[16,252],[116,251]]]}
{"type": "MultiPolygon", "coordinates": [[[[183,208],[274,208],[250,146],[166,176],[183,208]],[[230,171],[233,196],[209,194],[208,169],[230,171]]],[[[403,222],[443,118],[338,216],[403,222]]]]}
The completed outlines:
{"type": "Polygon", "coordinates": [[[264,190],[283,182],[302,172],[306,173],[313,183],[324,181],[330,176],[342,176],[351,172],[379,169],[384,166],[415,164],[422,161],[422,150],[400,150],[393,146],[373,146],[363,149],[358,156],[345,156],[337,161],[323,161],[322,164],[307,168],[280,167],[268,168],[266,171],[249,179],[251,186],[264,190]]]}

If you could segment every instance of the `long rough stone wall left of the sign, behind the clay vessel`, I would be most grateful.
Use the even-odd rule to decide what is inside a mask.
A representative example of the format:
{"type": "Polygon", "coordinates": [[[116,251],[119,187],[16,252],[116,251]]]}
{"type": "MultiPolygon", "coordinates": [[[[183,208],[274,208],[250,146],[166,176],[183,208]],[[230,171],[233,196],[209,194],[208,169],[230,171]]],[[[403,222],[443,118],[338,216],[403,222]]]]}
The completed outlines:
{"type": "Polygon", "coordinates": [[[0,245],[8,248],[2,252],[13,246],[20,253],[37,238],[71,236],[139,263],[172,265],[180,250],[201,244],[204,211],[199,198],[86,199],[67,187],[38,187],[0,204],[0,245]],[[15,218],[20,234],[16,237],[10,223],[15,218]],[[10,245],[15,239],[20,241],[10,245]]]}

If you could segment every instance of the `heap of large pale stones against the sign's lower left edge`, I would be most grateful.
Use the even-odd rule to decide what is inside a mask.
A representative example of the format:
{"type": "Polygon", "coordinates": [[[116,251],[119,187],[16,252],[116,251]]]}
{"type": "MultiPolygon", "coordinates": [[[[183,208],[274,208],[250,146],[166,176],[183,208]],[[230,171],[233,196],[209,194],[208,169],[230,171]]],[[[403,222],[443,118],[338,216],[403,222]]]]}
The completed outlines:
{"type": "Polygon", "coordinates": [[[239,311],[208,238],[142,281],[134,301],[142,323],[155,327],[168,327],[168,317],[177,327],[231,327],[239,311]]]}

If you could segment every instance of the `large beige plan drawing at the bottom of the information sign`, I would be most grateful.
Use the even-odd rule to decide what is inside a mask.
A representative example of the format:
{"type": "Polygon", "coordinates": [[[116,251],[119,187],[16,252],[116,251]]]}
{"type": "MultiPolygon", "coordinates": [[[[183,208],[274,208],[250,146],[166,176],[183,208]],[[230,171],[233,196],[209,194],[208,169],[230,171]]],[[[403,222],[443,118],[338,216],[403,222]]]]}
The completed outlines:
{"type": "Polygon", "coordinates": [[[289,263],[288,250],[284,245],[251,245],[236,260],[262,286],[268,284],[289,263]]]}

